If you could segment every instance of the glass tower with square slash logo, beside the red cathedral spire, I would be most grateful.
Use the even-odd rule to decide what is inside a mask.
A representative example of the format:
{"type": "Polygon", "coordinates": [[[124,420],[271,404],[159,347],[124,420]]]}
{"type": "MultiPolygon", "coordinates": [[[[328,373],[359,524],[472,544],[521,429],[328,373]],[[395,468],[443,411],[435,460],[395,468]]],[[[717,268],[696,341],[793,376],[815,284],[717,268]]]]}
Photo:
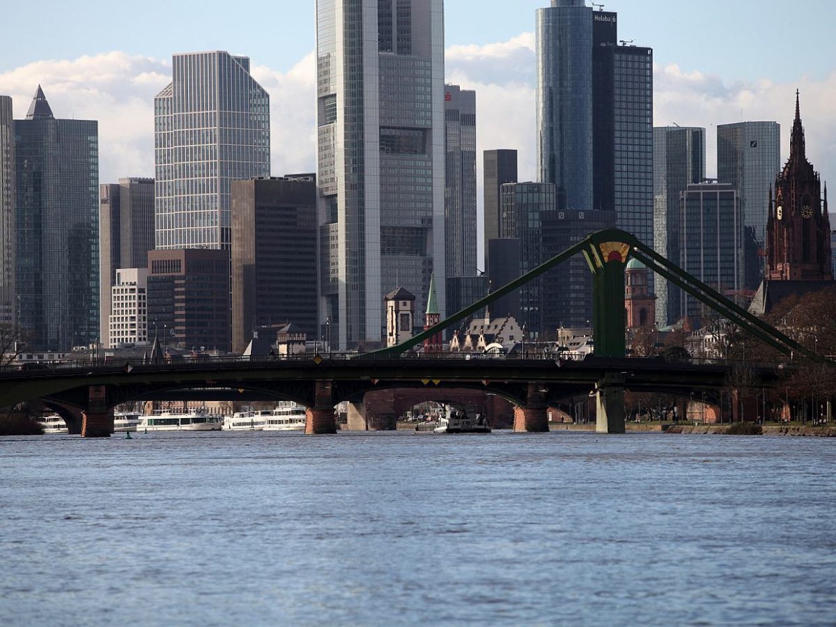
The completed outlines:
{"type": "Polygon", "coordinates": [[[717,181],[740,193],[744,233],[744,287],[755,290],[763,278],[769,190],[781,171],[781,126],[777,122],[738,122],[717,126],[717,181]]]}

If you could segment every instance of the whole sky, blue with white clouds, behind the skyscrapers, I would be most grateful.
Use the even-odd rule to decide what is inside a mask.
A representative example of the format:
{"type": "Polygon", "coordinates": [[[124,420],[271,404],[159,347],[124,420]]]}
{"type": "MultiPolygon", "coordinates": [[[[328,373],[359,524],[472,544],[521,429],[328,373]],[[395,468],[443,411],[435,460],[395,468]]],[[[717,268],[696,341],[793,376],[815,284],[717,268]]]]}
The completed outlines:
{"type": "MultiPolygon", "coordinates": [[[[43,84],[58,117],[99,120],[102,182],[153,176],[152,102],[171,80],[171,54],[245,54],[271,96],[273,174],[314,171],[314,0],[230,6],[40,0],[33,30],[23,28],[32,9],[14,3],[3,16],[22,28],[3,29],[0,94],[23,117],[43,84]],[[165,16],[151,10],[163,6],[165,16]]],[[[446,0],[446,78],[477,90],[478,150],[517,148],[522,179],[536,176],[533,30],[543,6],[446,0]]],[[[619,13],[619,38],[654,48],[655,125],[706,127],[710,176],[718,124],[777,120],[785,159],[801,89],[808,155],[825,180],[836,177],[836,2],[612,0],[606,10],[619,13]]]]}

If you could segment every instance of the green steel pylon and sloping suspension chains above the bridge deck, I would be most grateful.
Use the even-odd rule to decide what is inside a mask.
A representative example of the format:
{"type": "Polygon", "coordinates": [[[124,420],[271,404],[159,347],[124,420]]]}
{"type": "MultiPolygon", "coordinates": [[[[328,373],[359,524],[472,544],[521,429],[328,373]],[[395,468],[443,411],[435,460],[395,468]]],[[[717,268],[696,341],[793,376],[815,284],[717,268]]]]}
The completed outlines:
{"type": "Polygon", "coordinates": [[[583,254],[586,257],[589,269],[593,273],[595,354],[604,357],[624,357],[626,354],[624,338],[627,321],[624,311],[624,270],[630,261],[630,257],[633,257],[662,278],[668,279],[686,293],[691,294],[708,308],[713,309],[733,324],[737,324],[738,327],[761,339],[782,354],[786,354],[788,357],[792,357],[793,354],[803,354],[813,361],[827,361],[823,356],[804,348],[792,338],[739,307],[715,289],[686,273],[682,268],[670,263],[665,257],[640,242],[631,233],[615,228],[592,233],[589,237],[585,237],[574,246],[552,257],[538,268],[523,274],[520,278],[497,289],[496,292],[487,294],[484,298],[477,300],[476,303],[442,320],[430,329],[426,329],[426,331],[401,344],[381,349],[373,354],[405,353],[405,351],[423,343],[425,339],[431,338],[450,328],[453,324],[468,318],[480,309],[497,301],[497,299],[512,293],[517,288],[538,278],[548,270],[558,267],[577,254],[583,254]]]}

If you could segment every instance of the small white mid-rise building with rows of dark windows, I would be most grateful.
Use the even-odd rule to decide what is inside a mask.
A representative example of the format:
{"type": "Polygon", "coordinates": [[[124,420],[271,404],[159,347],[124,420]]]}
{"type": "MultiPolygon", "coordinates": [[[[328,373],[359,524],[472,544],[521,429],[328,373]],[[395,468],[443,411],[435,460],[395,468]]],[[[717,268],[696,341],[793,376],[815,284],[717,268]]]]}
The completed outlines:
{"type": "Polygon", "coordinates": [[[148,269],[119,268],[110,288],[108,346],[146,344],[148,338],[148,269]]]}

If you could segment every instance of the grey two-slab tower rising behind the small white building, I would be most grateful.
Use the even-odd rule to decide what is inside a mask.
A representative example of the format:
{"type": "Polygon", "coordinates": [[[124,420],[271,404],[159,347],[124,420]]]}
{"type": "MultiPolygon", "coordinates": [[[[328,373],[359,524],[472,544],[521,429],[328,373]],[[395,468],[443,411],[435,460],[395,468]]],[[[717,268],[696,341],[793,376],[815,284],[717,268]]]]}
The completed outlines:
{"type": "Polygon", "coordinates": [[[145,268],[154,250],[154,179],[99,186],[99,337],[110,347],[111,288],[118,268],[145,268]]]}

